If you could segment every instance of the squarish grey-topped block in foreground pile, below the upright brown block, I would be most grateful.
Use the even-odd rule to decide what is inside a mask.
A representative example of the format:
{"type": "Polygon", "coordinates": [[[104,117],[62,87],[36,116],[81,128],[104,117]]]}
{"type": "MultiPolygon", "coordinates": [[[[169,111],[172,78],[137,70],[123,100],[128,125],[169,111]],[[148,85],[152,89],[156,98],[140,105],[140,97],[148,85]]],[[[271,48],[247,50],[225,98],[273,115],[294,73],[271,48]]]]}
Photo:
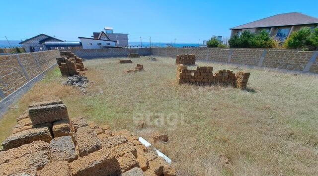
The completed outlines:
{"type": "Polygon", "coordinates": [[[75,145],[71,136],[56,137],[50,142],[50,155],[52,162],[78,159],[75,145]]]}

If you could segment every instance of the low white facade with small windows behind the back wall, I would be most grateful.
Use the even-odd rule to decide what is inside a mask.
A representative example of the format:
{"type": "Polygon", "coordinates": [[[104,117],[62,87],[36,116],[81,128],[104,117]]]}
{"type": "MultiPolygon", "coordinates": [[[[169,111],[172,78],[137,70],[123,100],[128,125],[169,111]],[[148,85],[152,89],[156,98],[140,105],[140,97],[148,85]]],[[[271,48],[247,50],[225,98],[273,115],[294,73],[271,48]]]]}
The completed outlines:
{"type": "Polygon", "coordinates": [[[101,49],[103,47],[115,47],[114,41],[79,38],[83,49],[101,49]]]}

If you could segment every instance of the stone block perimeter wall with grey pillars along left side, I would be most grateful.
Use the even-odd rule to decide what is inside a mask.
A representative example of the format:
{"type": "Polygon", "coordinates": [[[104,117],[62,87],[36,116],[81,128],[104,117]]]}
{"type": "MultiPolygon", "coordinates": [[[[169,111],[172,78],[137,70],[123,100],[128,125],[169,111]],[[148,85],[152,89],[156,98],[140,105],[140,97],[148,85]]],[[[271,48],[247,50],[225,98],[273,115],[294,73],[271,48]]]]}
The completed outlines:
{"type": "Polygon", "coordinates": [[[58,50],[0,56],[0,100],[49,68],[58,50]]]}

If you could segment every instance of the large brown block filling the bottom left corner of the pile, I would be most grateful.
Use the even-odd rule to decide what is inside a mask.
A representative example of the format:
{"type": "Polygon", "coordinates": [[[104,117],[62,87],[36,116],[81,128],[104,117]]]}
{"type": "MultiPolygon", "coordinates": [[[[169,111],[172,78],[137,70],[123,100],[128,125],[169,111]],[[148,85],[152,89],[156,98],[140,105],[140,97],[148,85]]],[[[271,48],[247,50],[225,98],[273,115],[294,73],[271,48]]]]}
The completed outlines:
{"type": "Polygon", "coordinates": [[[34,141],[18,148],[0,152],[0,175],[34,175],[50,161],[49,144],[34,141]]]}

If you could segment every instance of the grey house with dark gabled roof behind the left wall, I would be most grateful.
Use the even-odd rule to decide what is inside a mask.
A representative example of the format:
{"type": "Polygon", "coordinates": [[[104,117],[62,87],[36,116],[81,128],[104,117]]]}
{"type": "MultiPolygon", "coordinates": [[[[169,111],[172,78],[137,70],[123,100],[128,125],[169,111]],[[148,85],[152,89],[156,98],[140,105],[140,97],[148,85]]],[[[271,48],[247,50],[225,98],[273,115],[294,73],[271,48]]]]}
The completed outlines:
{"type": "Polygon", "coordinates": [[[20,42],[19,44],[23,46],[23,48],[25,49],[27,53],[40,52],[40,51],[53,49],[51,47],[47,47],[45,45],[45,42],[63,42],[63,40],[48,36],[46,34],[39,34],[32,38],[26,39],[20,42]]]}

